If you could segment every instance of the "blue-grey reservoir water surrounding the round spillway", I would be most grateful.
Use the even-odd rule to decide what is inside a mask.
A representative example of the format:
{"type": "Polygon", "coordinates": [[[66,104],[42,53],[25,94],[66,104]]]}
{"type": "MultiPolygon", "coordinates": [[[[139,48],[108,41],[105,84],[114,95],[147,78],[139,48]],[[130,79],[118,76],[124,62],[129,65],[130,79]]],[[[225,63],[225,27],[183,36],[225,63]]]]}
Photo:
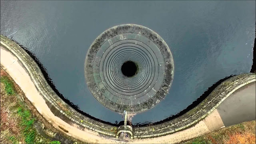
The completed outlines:
{"type": "Polygon", "coordinates": [[[16,40],[47,69],[56,88],[80,110],[112,122],[84,78],[90,44],[104,30],[139,24],[157,32],[174,58],[165,100],[132,122],[158,122],[178,114],[218,80],[250,72],[255,1],[1,1],[0,33],[16,40]]]}

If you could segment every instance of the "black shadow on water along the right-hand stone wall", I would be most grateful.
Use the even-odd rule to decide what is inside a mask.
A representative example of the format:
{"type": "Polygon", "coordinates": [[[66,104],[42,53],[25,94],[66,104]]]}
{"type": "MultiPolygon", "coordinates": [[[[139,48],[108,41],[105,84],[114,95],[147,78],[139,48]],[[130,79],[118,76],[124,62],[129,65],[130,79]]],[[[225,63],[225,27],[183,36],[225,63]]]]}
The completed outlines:
{"type": "Polygon", "coordinates": [[[154,123],[148,123],[148,122],[144,122],[142,124],[137,123],[136,125],[133,125],[133,127],[142,127],[142,126],[153,126],[156,124],[162,124],[164,122],[173,120],[175,118],[178,118],[179,116],[182,116],[183,114],[185,114],[186,112],[190,111],[192,108],[196,107],[198,104],[200,104],[200,102],[202,102],[207,96],[209,96],[209,94],[222,82],[224,82],[225,80],[227,80],[228,78],[231,78],[232,76],[235,75],[230,75],[226,78],[223,78],[221,80],[219,80],[218,82],[216,82],[215,84],[213,84],[210,88],[208,88],[208,90],[206,90],[204,92],[204,94],[202,94],[198,99],[196,99],[194,102],[192,102],[192,104],[190,104],[186,109],[182,110],[181,112],[179,112],[176,115],[170,116],[169,118],[166,118],[164,120],[161,120],[159,122],[154,122],[154,123]]]}

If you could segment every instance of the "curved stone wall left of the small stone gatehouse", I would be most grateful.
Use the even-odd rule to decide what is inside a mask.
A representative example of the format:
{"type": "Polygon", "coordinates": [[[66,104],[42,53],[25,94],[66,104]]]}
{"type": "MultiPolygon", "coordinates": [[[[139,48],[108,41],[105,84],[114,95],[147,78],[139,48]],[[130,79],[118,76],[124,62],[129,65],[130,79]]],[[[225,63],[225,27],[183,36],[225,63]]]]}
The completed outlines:
{"type": "Polygon", "coordinates": [[[114,130],[118,127],[92,120],[71,108],[52,90],[36,62],[23,48],[5,36],[1,35],[0,38],[1,46],[4,46],[6,50],[12,52],[24,65],[30,75],[30,78],[38,89],[38,92],[40,92],[40,95],[46,100],[46,104],[55,116],[58,116],[68,124],[76,123],[101,134],[114,137],[116,136],[116,132],[114,130]]]}

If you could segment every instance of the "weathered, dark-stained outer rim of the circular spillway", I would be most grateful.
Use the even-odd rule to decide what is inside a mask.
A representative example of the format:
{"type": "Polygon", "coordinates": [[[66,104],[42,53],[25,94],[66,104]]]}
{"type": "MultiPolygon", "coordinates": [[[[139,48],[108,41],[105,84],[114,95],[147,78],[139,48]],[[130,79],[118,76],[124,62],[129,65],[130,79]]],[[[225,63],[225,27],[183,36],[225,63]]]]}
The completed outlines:
{"type": "MultiPolygon", "coordinates": [[[[159,64],[159,67],[162,65],[163,64],[159,64]]],[[[166,42],[164,42],[164,40],[158,34],[156,34],[156,32],[154,32],[153,30],[150,30],[149,28],[136,25],[136,24],[123,24],[123,25],[109,28],[108,30],[100,34],[100,36],[98,36],[96,40],[94,40],[94,42],[92,43],[92,45],[90,46],[86,54],[86,59],[84,64],[84,74],[86,78],[86,84],[90,92],[96,98],[96,100],[98,100],[106,108],[119,113],[123,113],[124,110],[128,112],[139,113],[152,108],[166,96],[166,94],[170,89],[170,86],[172,84],[172,80],[174,77],[174,61],[173,61],[170,48],[168,47],[166,42]],[[102,82],[100,84],[99,82],[95,82],[95,77],[98,77],[98,75],[100,75],[100,74],[98,75],[95,74],[95,67],[97,68],[100,67],[99,66],[100,64],[98,64],[96,61],[94,62],[94,59],[98,56],[97,52],[101,49],[102,44],[104,44],[105,42],[108,42],[114,36],[123,36],[125,34],[127,36],[127,33],[137,34],[136,35],[136,37],[138,36],[137,40],[140,39],[140,37],[141,38],[146,37],[152,42],[154,42],[154,44],[159,48],[160,52],[162,53],[162,57],[164,58],[164,67],[165,67],[163,72],[164,78],[160,88],[154,94],[154,96],[150,96],[149,99],[143,102],[134,101],[134,102],[137,102],[136,104],[134,103],[132,104],[132,102],[131,104],[122,104],[122,102],[118,102],[118,100],[116,100],[116,102],[113,102],[108,97],[104,96],[103,94],[104,88],[101,88],[101,89],[98,88],[99,85],[102,85],[102,82]]],[[[120,74],[120,72],[119,73],[116,72],[116,74],[120,74]]],[[[123,79],[121,75],[119,79],[121,80],[123,79]]],[[[133,82],[136,82],[136,81],[133,80],[133,82]]]]}

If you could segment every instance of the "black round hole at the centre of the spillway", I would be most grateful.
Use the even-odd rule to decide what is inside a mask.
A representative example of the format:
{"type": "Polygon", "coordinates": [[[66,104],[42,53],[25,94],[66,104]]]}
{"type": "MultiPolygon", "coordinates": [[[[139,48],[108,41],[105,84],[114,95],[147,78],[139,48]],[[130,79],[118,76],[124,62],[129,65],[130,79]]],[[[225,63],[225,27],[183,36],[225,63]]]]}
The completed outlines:
{"type": "Polygon", "coordinates": [[[122,65],[122,73],[125,76],[131,77],[134,76],[137,72],[137,66],[134,62],[132,61],[127,61],[122,65]]]}

